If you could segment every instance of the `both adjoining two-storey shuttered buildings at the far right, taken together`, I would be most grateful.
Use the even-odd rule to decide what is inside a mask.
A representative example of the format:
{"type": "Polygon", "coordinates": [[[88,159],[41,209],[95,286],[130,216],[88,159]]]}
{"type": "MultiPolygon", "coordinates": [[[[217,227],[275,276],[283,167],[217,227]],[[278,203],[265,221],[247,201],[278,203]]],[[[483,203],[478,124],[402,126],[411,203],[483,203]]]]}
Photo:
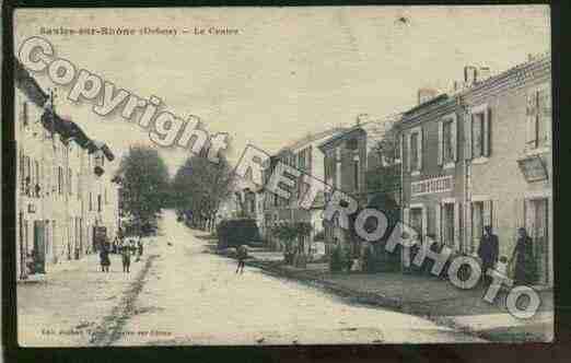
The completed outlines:
{"type": "Polygon", "coordinates": [[[468,255],[491,225],[508,258],[525,227],[535,282],[552,285],[550,55],[493,77],[467,74],[403,116],[403,221],[468,255]]]}

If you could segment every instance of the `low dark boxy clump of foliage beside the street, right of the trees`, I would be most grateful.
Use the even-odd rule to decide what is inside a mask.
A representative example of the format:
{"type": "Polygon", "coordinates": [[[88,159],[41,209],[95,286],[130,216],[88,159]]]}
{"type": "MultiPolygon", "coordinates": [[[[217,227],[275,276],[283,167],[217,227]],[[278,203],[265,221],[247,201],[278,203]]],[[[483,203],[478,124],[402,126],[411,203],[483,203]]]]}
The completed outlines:
{"type": "Polygon", "coordinates": [[[217,226],[218,247],[238,247],[260,239],[258,226],[253,219],[224,220],[217,226]]]}

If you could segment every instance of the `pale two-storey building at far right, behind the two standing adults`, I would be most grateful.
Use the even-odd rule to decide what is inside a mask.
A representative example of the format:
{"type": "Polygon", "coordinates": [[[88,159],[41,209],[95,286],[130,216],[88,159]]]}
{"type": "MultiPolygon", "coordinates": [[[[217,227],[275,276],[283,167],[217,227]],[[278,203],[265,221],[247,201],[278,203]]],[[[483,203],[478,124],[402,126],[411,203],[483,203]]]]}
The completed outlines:
{"type": "Polygon", "coordinates": [[[516,231],[534,243],[536,283],[552,285],[552,138],[550,55],[529,57],[458,93],[466,109],[465,238],[479,245],[483,225],[510,258],[516,231]]]}

